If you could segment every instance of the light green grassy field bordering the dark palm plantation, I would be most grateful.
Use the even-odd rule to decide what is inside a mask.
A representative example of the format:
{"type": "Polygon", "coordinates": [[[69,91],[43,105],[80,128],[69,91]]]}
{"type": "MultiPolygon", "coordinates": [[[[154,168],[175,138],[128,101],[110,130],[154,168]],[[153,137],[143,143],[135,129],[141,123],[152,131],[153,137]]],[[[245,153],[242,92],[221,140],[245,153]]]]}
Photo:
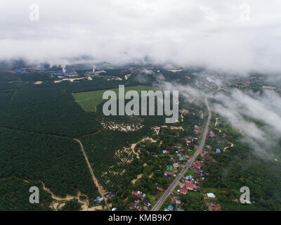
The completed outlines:
{"type": "MultiPolygon", "coordinates": [[[[128,86],[125,87],[125,93],[126,91],[138,91],[139,94],[141,94],[141,91],[150,91],[155,90],[155,87],[152,86],[128,86]]],[[[81,108],[83,108],[86,112],[96,112],[96,106],[100,103],[103,103],[103,93],[108,90],[100,90],[100,91],[86,91],[81,93],[74,93],[72,96],[74,97],[74,101],[77,102],[79,105],[81,105],[81,108]]],[[[118,98],[118,89],[112,89],[112,91],[115,91],[118,98]]]]}

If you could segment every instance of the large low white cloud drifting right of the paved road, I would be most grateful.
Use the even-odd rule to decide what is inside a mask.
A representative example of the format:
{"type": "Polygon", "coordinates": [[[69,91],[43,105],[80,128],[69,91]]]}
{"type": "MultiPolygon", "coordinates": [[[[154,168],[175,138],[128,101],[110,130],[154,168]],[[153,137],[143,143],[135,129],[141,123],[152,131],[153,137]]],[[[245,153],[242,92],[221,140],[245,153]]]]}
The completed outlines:
{"type": "Polygon", "coordinates": [[[260,156],[274,157],[281,136],[281,98],[275,91],[261,94],[233,89],[213,98],[212,110],[243,134],[242,141],[260,156]]]}

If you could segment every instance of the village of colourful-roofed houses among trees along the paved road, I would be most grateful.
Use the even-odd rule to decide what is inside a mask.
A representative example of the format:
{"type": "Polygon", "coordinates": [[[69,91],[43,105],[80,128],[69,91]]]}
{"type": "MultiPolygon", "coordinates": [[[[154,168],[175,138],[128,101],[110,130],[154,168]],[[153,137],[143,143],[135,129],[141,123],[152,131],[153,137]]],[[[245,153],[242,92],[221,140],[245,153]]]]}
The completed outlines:
{"type": "MultiPolygon", "coordinates": [[[[194,129],[195,134],[200,133],[200,126],[195,125],[194,129]]],[[[214,131],[209,132],[209,137],[214,137],[214,131]]],[[[162,179],[165,180],[173,180],[178,172],[183,169],[185,164],[188,162],[190,155],[192,152],[198,148],[198,138],[188,136],[182,139],[185,143],[185,148],[181,146],[173,146],[169,150],[162,150],[162,155],[170,155],[170,165],[166,165],[166,169],[163,172],[162,179]],[[192,147],[189,148],[189,147],[192,147]]],[[[211,146],[205,146],[207,150],[200,153],[200,160],[195,161],[192,164],[192,167],[188,170],[188,172],[183,176],[178,182],[177,187],[171,193],[171,203],[163,205],[164,211],[184,211],[181,206],[183,206],[183,200],[181,200],[182,196],[188,196],[188,200],[190,203],[197,203],[197,199],[192,197],[190,193],[197,193],[202,195],[203,200],[202,204],[206,205],[206,207],[211,211],[220,210],[220,205],[216,203],[216,195],[214,193],[202,193],[200,188],[200,182],[204,180],[204,176],[208,176],[208,174],[204,174],[204,160],[214,160],[212,158],[212,154],[221,153],[219,148],[216,148],[216,151],[211,151],[211,146]],[[207,202],[206,200],[211,200],[211,202],[207,202]]],[[[158,155],[153,155],[154,158],[157,158],[158,155]]],[[[156,191],[155,191],[155,199],[159,198],[162,193],[165,191],[162,186],[159,186],[157,182],[154,183],[156,191]]],[[[133,201],[129,203],[131,210],[143,211],[150,210],[152,208],[152,203],[147,198],[147,195],[143,193],[143,191],[138,190],[133,193],[133,197],[135,198],[133,201]]],[[[206,208],[206,209],[207,209],[206,208]]]]}

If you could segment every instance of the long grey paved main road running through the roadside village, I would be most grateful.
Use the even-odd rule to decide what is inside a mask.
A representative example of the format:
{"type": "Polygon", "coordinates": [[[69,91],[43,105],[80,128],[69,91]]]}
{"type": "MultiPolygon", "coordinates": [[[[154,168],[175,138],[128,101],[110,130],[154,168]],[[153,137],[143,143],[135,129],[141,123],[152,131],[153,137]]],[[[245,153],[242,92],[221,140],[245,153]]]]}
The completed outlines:
{"type": "MultiPolygon", "coordinates": [[[[218,89],[216,91],[221,90],[221,87],[218,86],[218,89]]],[[[178,176],[176,176],[176,179],[174,179],[174,181],[171,183],[171,185],[169,186],[169,188],[164,192],[164,194],[162,195],[162,197],[157,201],[157,203],[154,205],[154,207],[152,207],[151,211],[158,211],[161,207],[161,205],[164,203],[164,201],[166,200],[166,198],[168,198],[168,196],[171,194],[171,192],[174,190],[174,188],[176,187],[176,184],[178,184],[178,181],[181,179],[181,177],[185,174],[185,172],[187,172],[187,170],[191,167],[191,165],[193,164],[193,162],[196,160],[197,156],[202,152],[202,149],[204,147],[206,138],[207,138],[207,134],[209,131],[209,124],[211,121],[211,109],[209,107],[209,103],[208,103],[208,98],[209,96],[211,96],[212,94],[214,94],[216,91],[211,92],[210,94],[207,94],[207,96],[204,99],[204,102],[207,106],[209,115],[208,115],[208,120],[204,129],[204,133],[202,136],[202,140],[200,143],[200,146],[197,148],[197,150],[195,151],[195,153],[192,155],[192,158],[190,158],[190,160],[188,160],[188,163],[185,165],[185,167],[181,170],[181,173],[178,174],[178,176]]]]}

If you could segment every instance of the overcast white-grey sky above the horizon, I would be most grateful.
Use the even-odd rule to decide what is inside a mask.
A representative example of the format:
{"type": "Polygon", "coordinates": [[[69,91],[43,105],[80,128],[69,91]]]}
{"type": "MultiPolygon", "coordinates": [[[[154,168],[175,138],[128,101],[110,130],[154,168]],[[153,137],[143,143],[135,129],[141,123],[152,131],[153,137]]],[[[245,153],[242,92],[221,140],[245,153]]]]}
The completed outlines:
{"type": "Polygon", "coordinates": [[[1,0],[0,60],[55,64],[88,55],[120,64],[146,56],[165,65],[281,72],[280,10],[280,0],[1,0]],[[39,21],[30,20],[32,4],[39,21]]]}

